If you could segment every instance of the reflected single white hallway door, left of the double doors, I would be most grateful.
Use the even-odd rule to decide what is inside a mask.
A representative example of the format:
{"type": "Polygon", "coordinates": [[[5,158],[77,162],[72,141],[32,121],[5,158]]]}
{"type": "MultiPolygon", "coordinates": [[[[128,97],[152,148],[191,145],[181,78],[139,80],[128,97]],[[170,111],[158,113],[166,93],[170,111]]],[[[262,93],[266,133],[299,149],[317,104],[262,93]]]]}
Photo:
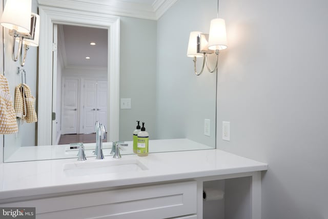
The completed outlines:
{"type": "Polygon", "coordinates": [[[78,114],[78,79],[65,78],[63,86],[63,116],[61,116],[61,132],[62,134],[76,134],[78,114]]]}

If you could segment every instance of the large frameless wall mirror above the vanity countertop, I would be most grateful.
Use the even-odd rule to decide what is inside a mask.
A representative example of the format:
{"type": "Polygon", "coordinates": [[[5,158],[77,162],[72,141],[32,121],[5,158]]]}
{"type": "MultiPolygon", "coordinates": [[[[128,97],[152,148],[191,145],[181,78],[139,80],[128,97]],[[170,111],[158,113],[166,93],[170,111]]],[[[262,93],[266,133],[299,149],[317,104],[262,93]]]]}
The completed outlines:
{"type": "MultiPolygon", "coordinates": [[[[95,121],[107,129],[105,156],[112,141],[129,144],[121,154],[133,153],[136,121],[146,124],[150,152],[215,148],[216,73],[195,76],[186,56],[190,31],[209,29],[210,18],[184,12],[201,3],[178,0],[156,21],[32,2],[42,21],[40,46],[24,68],[38,122],[17,120],[18,133],[4,136],[4,162],[73,158],[70,143],[77,142],[93,156],[95,121]]],[[[5,30],[5,76],[14,98],[21,76],[9,39],[5,30]]]]}

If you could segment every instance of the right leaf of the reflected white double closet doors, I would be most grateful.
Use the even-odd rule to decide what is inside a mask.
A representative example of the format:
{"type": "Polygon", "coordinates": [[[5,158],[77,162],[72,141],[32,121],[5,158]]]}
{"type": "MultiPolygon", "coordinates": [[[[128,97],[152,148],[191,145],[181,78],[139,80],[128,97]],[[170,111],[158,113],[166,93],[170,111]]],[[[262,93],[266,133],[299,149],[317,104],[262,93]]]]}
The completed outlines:
{"type": "Polygon", "coordinates": [[[107,81],[97,81],[97,121],[104,124],[107,131],[107,81]]]}

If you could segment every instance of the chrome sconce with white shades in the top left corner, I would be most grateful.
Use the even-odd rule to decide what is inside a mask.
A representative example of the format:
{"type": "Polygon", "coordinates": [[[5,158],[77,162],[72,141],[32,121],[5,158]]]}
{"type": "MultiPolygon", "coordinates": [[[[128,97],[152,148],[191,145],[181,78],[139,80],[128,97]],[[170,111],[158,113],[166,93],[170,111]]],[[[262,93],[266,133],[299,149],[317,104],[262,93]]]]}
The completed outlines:
{"type": "Polygon", "coordinates": [[[40,17],[32,13],[31,8],[31,0],[7,0],[0,22],[2,26],[9,29],[9,35],[13,38],[12,59],[16,62],[19,58],[22,67],[25,65],[29,46],[39,45],[40,17]],[[16,54],[15,41],[18,42],[16,54]]]}

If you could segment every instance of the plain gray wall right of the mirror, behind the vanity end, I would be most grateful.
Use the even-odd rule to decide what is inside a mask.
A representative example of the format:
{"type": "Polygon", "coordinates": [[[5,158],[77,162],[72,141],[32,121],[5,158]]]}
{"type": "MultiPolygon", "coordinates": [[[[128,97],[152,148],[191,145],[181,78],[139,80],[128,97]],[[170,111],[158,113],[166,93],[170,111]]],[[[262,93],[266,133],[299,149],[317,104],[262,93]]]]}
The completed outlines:
{"type": "Polygon", "coordinates": [[[265,219],[328,216],[327,8],[323,0],[220,1],[229,48],[218,73],[217,148],[269,164],[265,219]],[[222,121],[231,122],[230,142],[221,140],[222,121]]]}

